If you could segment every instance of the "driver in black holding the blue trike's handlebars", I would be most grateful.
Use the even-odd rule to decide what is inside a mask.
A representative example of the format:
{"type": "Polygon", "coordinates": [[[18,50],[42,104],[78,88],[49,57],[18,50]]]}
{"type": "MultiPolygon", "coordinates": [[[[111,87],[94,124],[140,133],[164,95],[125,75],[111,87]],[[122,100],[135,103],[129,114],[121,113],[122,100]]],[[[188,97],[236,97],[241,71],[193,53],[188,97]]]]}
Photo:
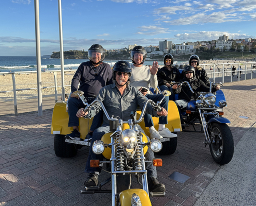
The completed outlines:
{"type": "MultiPolygon", "coordinates": [[[[195,76],[195,70],[193,66],[186,66],[183,70],[183,74],[184,78],[180,80],[180,82],[187,81],[194,92],[209,92],[210,88],[205,85],[202,80],[197,79],[195,76]]],[[[184,124],[183,118],[181,116],[181,110],[187,107],[188,102],[193,98],[193,93],[190,91],[187,83],[184,83],[180,87],[178,87],[177,84],[174,84],[172,89],[175,94],[179,94],[179,100],[174,102],[179,110],[180,122],[184,124]]],[[[216,88],[212,88],[212,92],[216,92],[219,89],[220,86],[217,85],[216,88]]]]}

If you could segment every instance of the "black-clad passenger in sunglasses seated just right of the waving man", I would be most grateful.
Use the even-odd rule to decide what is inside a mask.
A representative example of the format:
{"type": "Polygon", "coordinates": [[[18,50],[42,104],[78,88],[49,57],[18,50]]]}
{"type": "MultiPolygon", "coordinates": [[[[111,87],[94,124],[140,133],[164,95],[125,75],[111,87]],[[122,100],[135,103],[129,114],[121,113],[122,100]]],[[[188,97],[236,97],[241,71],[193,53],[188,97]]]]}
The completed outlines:
{"type": "Polygon", "coordinates": [[[173,67],[173,56],[167,54],[163,58],[164,66],[157,72],[158,86],[161,91],[169,90],[172,94],[169,96],[169,100],[174,100],[174,93],[172,92],[172,81],[180,80],[180,73],[176,67],[173,67]]]}

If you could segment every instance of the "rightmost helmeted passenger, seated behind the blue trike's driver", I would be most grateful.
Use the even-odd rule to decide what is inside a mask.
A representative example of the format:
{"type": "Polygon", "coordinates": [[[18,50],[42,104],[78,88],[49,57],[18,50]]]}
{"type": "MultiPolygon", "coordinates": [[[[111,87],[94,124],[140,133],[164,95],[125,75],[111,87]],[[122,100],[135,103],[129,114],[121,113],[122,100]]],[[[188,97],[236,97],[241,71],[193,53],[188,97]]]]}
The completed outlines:
{"type": "Polygon", "coordinates": [[[189,58],[189,65],[194,67],[195,76],[198,79],[201,79],[209,87],[210,86],[210,81],[209,81],[209,77],[207,75],[207,72],[204,70],[204,68],[199,66],[199,63],[200,63],[199,56],[192,55],[189,58]]]}

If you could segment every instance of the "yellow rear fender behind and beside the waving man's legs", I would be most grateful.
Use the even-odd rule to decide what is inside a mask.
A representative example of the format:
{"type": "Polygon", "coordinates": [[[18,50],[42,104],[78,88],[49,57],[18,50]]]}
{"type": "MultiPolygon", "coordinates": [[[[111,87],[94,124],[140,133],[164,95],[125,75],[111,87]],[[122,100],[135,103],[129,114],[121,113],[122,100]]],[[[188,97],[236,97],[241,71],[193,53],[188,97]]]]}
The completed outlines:
{"type": "MultiPolygon", "coordinates": [[[[137,111],[137,119],[140,117],[141,111],[137,111]]],[[[158,124],[158,117],[152,117],[154,127],[156,130],[158,130],[159,124],[158,124]]],[[[166,128],[168,128],[171,132],[180,132],[182,131],[182,124],[180,123],[180,118],[179,118],[179,112],[178,108],[175,104],[174,101],[169,101],[168,104],[168,124],[165,125],[166,128]]],[[[145,132],[147,136],[150,136],[149,129],[148,127],[145,127],[144,121],[142,121],[140,124],[141,129],[145,132]]]]}

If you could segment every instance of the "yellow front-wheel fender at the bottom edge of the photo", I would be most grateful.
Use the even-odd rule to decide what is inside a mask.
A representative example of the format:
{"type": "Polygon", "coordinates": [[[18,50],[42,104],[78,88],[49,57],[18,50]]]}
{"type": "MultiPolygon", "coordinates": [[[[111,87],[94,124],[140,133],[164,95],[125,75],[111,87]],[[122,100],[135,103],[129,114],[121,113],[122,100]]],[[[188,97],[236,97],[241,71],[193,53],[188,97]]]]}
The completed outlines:
{"type": "Polygon", "coordinates": [[[130,190],[122,191],[119,195],[121,205],[131,206],[131,197],[134,193],[140,197],[142,205],[147,205],[147,206],[152,205],[147,193],[141,189],[130,189],[130,190]]]}

